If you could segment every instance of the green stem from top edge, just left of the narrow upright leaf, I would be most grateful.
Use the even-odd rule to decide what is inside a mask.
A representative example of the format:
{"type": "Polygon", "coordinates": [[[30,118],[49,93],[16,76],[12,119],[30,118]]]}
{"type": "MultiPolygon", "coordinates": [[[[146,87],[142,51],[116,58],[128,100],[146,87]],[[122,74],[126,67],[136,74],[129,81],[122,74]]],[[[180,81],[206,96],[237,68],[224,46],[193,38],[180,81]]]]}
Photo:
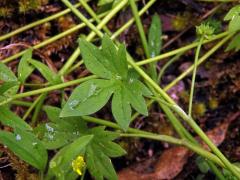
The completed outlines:
{"type": "Polygon", "coordinates": [[[141,38],[141,42],[142,42],[142,45],[143,45],[144,52],[146,54],[146,57],[150,58],[147,38],[146,38],[145,33],[144,33],[144,29],[143,29],[143,25],[142,25],[140,16],[138,15],[137,5],[136,5],[134,0],[129,0],[129,3],[130,3],[130,6],[131,6],[131,9],[132,9],[132,13],[133,13],[137,28],[138,28],[138,32],[139,32],[139,35],[140,35],[140,38],[141,38]]]}

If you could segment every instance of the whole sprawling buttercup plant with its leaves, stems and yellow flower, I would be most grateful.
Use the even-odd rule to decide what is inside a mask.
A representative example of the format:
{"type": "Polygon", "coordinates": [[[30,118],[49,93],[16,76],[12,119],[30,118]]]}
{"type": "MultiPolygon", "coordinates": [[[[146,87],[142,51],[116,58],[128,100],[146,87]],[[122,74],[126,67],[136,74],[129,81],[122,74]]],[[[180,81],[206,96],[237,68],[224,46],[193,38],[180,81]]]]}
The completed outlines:
{"type": "MultiPolygon", "coordinates": [[[[10,131],[0,131],[0,141],[20,159],[39,170],[41,179],[71,180],[77,179],[78,176],[84,178],[85,171],[88,171],[97,180],[118,179],[111,159],[126,154],[126,151],[116,143],[116,139],[124,137],[147,138],[184,146],[201,157],[201,161],[198,163],[200,169],[204,172],[211,169],[218,179],[224,179],[225,174],[240,179],[240,168],[236,164],[232,164],[222,154],[192,118],[197,67],[231,38],[232,41],[227,50],[240,49],[239,34],[237,34],[240,29],[240,21],[238,21],[239,5],[233,7],[224,18],[224,20],[230,21],[228,31],[214,34],[215,29],[209,23],[200,24],[196,27],[197,40],[195,42],[160,54],[162,31],[159,16],[153,16],[148,38],[140,19],[140,15],[146,12],[155,1],[150,0],[141,11],[138,11],[137,4],[133,0],[100,0],[99,6],[110,4],[111,8],[105,13],[97,15],[87,1],[80,0],[80,4],[74,6],[70,1],[62,0],[68,9],[55,16],[45,18],[41,22],[48,22],[68,12],[73,12],[83,24],[72,27],[69,31],[58,34],[46,42],[15,54],[0,63],[0,122],[2,125],[10,127],[10,131]],[[91,20],[87,19],[77,9],[80,5],[92,16],[91,20]],[[128,5],[133,12],[133,18],[112,34],[106,24],[128,5]],[[93,21],[96,21],[96,26],[92,23],[93,21]],[[116,37],[134,21],[136,21],[147,58],[140,62],[135,62],[128,53],[126,46],[116,40],[116,37]],[[33,52],[35,49],[65,37],[83,26],[90,28],[90,34],[87,37],[79,38],[79,47],[58,72],[39,59],[34,59],[33,52]],[[107,35],[104,35],[102,29],[107,35]],[[90,42],[96,38],[95,36],[98,36],[101,40],[100,47],[90,42]],[[199,58],[201,46],[217,39],[221,40],[199,58]],[[173,55],[178,58],[187,50],[195,47],[193,65],[165,88],[161,88],[158,83],[163,73],[160,73],[160,78],[157,76],[156,62],[173,55]],[[80,54],[83,60],[76,62],[80,54]],[[16,76],[4,63],[20,56],[16,76]],[[64,82],[65,77],[82,64],[85,65],[91,75],[64,82]],[[141,67],[145,64],[149,64],[147,70],[141,67]],[[46,80],[44,85],[46,87],[42,88],[38,85],[38,89],[18,93],[20,87],[26,85],[29,76],[34,71],[46,80]],[[186,113],[166,91],[192,71],[189,109],[186,113]],[[78,86],[71,91],[69,98],[65,101],[64,88],[72,85],[78,86]],[[44,104],[48,93],[54,90],[61,90],[63,96],[59,107],[44,104]],[[18,100],[32,95],[39,95],[32,103],[18,100]],[[116,123],[93,116],[101,111],[109,101],[112,119],[115,119],[116,123]],[[166,114],[179,138],[130,127],[131,122],[139,114],[148,116],[150,104],[155,101],[166,114]],[[10,110],[10,106],[14,104],[28,107],[22,118],[10,110]],[[37,117],[40,111],[47,115],[47,122],[38,122],[37,117]],[[132,116],[134,111],[136,111],[136,114],[132,116]],[[31,114],[33,114],[32,118],[30,118],[31,114]],[[210,151],[201,147],[189,130],[185,128],[180,121],[181,119],[209,146],[210,151]],[[31,123],[31,126],[28,122],[31,123]],[[48,151],[54,152],[53,157],[48,156],[48,151]],[[207,167],[207,170],[203,168],[203,165],[207,167]]],[[[3,35],[0,40],[39,25],[41,22],[33,23],[19,31],[3,35]]],[[[31,86],[35,87],[33,84],[30,84],[30,88],[31,86]]]]}

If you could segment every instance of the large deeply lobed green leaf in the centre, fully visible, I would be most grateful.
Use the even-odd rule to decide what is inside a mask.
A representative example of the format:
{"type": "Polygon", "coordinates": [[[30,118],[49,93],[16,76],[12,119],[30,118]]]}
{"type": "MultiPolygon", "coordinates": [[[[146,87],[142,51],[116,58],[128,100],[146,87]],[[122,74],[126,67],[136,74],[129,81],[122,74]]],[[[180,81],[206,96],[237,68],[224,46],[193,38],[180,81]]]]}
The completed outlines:
{"type": "Polygon", "coordinates": [[[122,129],[126,130],[130,124],[131,107],[148,115],[143,96],[149,96],[151,92],[128,71],[124,45],[116,47],[108,36],[102,38],[101,49],[84,39],[79,40],[79,45],[87,69],[105,79],[89,80],[79,85],[63,107],[61,117],[93,114],[112,94],[112,113],[122,129]]]}

